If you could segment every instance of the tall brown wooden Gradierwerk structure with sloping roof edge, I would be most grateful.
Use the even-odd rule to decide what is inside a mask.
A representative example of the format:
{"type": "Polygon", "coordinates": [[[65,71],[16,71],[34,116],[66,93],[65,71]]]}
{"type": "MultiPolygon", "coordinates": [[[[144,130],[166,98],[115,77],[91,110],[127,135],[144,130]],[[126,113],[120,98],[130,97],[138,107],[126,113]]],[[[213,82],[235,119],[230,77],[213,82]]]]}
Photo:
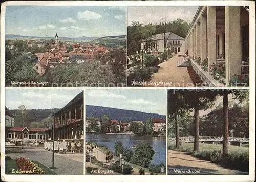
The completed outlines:
{"type": "MultiPolygon", "coordinates": [[[[55,140],[83,139],[83,92],[65,107],[54,113],[55,140]]],[[[46,131],[46,139],[53,139],[53,128],[46,131]]]]}

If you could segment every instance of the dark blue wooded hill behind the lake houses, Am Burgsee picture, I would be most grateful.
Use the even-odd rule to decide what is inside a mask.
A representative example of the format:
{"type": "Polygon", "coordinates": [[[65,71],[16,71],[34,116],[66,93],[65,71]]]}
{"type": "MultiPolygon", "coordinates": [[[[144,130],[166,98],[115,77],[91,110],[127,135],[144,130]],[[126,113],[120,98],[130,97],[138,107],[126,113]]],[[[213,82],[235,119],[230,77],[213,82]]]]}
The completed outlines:
{"type": "Polygon", "coordinates": [[[165,119],[164,115],[158,115],[156,113],[146,113],[135,110],[124,110],[110,107],[100,107],[93,105],[86,105],[86,117],[100,117],[102,115],[109,115],[112,120],[126,120],[126,121],[146,121],[147,118],[162,118],[165,119]]]}

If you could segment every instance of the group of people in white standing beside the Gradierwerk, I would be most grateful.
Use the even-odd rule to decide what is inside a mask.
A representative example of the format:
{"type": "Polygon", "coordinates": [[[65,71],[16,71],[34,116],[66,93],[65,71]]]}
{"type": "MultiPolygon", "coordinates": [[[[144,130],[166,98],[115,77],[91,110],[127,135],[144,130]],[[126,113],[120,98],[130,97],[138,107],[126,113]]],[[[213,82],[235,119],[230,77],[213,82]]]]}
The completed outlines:
{"type": "MultiPolygon", "coordinates": [[[[71,143],[67,143],[65,140],[63,141],[55,141],[54,142],[54,151],[59,153],[66,153],[67,149],[70,146],[70,151],[75,153],[75,143],[72,141],[71,143]]],[[[44,149],[47,151],[53,150],[53,142],[45,141],[44,142],[44,149]]]]}

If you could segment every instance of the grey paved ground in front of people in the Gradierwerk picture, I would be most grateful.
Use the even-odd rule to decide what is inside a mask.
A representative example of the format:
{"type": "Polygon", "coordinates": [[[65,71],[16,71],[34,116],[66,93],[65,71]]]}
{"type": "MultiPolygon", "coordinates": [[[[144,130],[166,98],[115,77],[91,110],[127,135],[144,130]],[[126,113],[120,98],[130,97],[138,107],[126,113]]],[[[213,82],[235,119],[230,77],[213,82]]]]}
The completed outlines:
{"type": "MultiPolygon", "coordinates": [[[[11,158],[26,157],[31,161],[38,161],[47,167],[52,167],[52,152],[45,150],[22,150],[8,153],[11,158]],[[15,153],[14,153],[15,152],[15,153]]],[[[54,172],[57,174],[83,174],[83,154],[55,154],[54,172]],[[80,156],[81,155],[81,156],[80,156]],[[72,159],[71,159],[72,158],[72,159]],[[82,160],[81,160],[82,159],[82,160]]]]}

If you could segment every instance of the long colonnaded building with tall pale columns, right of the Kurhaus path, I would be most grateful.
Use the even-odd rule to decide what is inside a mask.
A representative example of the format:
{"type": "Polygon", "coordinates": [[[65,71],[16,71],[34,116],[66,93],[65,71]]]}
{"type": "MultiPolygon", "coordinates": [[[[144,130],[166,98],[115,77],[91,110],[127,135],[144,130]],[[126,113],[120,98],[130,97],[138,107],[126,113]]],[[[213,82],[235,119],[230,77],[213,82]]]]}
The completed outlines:
{"type": "MultiPolygon", "coordinates": [[[[210,73],[222,64],[224,84],[249,75],[249,7],[200,6],[185,37],[185,50],[202,81],[217,86],[210,73]],[[206,62],[207,61],[207,62],[206,62]],[[202,69],[203,62],[206,69],[202,69]]],[[[221,67],[221,66],[220,66],[221,67]]],[[[219,85],[223,86],[223,85],[219,85]]]]}

